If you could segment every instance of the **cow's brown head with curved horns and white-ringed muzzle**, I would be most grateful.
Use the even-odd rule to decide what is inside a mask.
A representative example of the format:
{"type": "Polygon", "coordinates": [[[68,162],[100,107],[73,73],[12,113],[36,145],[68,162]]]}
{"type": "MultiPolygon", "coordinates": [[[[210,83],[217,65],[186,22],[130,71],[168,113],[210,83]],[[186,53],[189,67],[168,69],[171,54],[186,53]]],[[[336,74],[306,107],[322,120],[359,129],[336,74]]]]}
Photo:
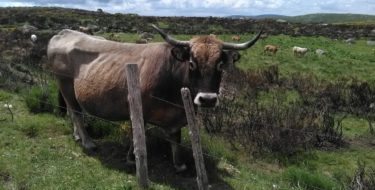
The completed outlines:
{"type": "Polygon", "coordinates": [[[172,45],[172,55],[189,64],[188,87],[193,92],[194,103],[202,107],[218,104],[218,91],[224,68],[238,61],[237,50],[250,48],[259,39],[259,32],[253,39],[241,44],[222,42],[214,35],[197,36],[190,41],[180,41],[152,25],[164,40],[172,45]]]}

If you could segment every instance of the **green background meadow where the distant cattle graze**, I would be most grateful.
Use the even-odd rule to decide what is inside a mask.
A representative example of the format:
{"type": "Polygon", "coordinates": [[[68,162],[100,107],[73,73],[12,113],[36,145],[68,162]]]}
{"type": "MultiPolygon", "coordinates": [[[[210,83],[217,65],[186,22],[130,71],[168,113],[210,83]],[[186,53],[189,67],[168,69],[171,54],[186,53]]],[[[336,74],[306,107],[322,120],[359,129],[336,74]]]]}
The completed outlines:
{"type": "MultiPolygon", "coordinates": [[[[108,37],[109,34],[101,34],[108,37]]],[[[231,42],[232,35],[218,35],[223,41],[231,42]]],[[[241,41],[251,39],[254,34],[244,34],[241,41]]],[[[153,42],[163,41],[159,35],[153,42]]],[[[191,35],[175,35],[176,39],[189,40],[191,35]]],[[[137,34],[119,33],[119,41],[135,42],[137,34]]],[[[240,51],[241,59],[237,66],[247,69],[264,68],[278,65],[281,76],[288,77],[293,73],[302,72],[315,75],[320,80],[336,81],[342,78],[357,78],[371,83],[375,82],[375,56],[366,39],[358,40],[349,45],[342,40],[325,37],[291,37],[285,35],[269,36],[260,40],[248,50],[240,51]],[[279,51],[275,56],[264,55],[263,47],[267,44],[277,45],[279,51]],[[295,57],[293,46],[307,47],[309,51],[303,57],[295,57]],[[323,49],[326,55],[318,57],[316,49],[323,49]]]]}

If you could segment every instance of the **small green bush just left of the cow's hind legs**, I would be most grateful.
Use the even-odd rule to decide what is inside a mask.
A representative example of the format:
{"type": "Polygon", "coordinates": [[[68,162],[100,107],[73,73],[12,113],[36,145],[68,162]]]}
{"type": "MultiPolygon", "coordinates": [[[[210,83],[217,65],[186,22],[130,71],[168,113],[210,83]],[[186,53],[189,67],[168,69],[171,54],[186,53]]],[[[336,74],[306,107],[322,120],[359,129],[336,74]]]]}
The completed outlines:
{"type": "Polygon", "coordinates": [[[54,85],[34,86],[26,93],[25,102],[30,112],[53,113],[57,109],[56,87],[54,85]]]}

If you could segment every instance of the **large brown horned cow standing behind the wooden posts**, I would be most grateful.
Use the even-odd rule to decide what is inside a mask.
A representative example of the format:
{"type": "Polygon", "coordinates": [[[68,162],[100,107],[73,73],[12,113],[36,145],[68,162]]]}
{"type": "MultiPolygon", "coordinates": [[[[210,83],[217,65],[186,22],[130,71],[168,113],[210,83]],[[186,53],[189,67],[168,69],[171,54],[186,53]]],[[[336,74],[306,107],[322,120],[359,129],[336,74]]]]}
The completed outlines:
{"type": "MultiPolygon", "coordinates": [[[[120,43],[67,29],[50,40],[49,68],[56,74],[60,103],[66,102],[72,118],[73,136],[83,147],[92,149],[95,144],[79,112],[108,120],[129,119],[125,76],[129,63],[138,64],[144,121],[180,143],[181,127],[187,123],[180,89],[190,89],[195,106],[217,105],[222,69],[239,59],[236,50],[250,48],[261,34],[241,44],[210,35],[179,41],[152,26],[166,43],[120,43]]],[[[178,145],[171,145],[175,168],[184,170],[178,145]]]]}

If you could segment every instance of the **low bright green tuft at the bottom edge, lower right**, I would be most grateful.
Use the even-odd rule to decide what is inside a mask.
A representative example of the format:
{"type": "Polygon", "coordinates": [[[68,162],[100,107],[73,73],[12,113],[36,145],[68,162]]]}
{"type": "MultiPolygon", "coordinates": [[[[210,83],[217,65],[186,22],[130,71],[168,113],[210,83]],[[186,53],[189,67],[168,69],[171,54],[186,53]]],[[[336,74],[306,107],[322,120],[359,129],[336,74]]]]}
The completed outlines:
{"type": "Polygon", "coordinates": [[[333,179],[306,169],[290,167],[283,173],[283,176],[294,186],[303,189],[340,189],[340,186],[333,179]]]}

